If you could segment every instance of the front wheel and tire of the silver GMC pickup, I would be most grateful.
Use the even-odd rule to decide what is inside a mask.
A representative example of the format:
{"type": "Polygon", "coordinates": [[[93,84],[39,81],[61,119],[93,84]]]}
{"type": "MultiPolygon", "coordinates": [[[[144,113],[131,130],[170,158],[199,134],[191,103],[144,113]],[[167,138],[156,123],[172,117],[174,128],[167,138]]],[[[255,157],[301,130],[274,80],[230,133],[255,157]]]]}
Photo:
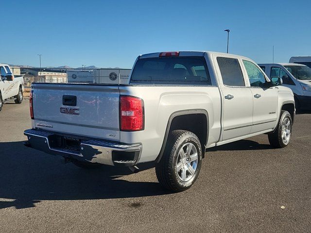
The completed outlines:
{"type": "Polygon", "coordinates": [[[268,134],[268,139],[269,139],[270,145],[275,147],[275,148],[286,147],[291,140],[292,131],[293,131],[292,116],[288,111],[283,110],[283,111],[281,111],[281,116],[280,116],[280,119],[279,119],[278,124],[276,126],[276,130],[274,131],[274,133],[268,134]],[[290,124],[288,136],[287,136],[287,133],[284,132],[284,127],[285,127],[286,121],[289,122],[289,124],[290,124]],[[283,133],[286,133],[285,137],[284,137],[283,133]],[[284,138],[286,140],[284,140],[284,138]]]}

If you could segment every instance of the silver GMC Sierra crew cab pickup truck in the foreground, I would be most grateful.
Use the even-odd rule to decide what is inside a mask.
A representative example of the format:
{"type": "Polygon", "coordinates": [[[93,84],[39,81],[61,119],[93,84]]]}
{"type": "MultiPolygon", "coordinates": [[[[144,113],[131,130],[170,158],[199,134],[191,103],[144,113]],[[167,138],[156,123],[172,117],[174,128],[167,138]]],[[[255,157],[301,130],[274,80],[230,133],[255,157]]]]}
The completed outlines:
{"type": "Polygon", "coordinates": [[[205,150],[267,133],[288,145],[294,95],[251,59],[217,52],[138,56],[128,84],[33,83],[25,146],[77,166],[155,166],[159,183],[183,191],[205,150]]]}

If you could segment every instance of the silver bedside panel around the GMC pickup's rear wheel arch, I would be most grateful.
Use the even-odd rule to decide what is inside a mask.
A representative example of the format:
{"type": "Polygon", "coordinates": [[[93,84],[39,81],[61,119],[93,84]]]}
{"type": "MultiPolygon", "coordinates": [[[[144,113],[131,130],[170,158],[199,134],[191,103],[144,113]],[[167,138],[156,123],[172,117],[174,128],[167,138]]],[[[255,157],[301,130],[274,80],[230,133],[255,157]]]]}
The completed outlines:
{"type": "Polygon", "coordinates": [[[174,112],[206,110],[209,118],[208,144],[219,139],[221,101],[216,86],[123,86],[120,87],[120,94],[136,96],[144,101],[144,130],[120,133],[121,142],[142,144],[139,163],[156,159],[162,147],[169,118],[174,112]]]}

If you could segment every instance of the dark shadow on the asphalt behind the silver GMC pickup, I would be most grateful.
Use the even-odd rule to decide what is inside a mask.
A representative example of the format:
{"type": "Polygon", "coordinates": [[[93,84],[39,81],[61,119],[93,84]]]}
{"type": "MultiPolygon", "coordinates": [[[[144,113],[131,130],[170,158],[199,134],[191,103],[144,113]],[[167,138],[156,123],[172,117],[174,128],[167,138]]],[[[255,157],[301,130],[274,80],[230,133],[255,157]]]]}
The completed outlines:
{"type": "Polygon", "coordinates": [[[132,172],[126,167],[86,170],[61,161],[61,157],[26,148],[22,142],[0,142],[0,209],[35,207],[40,200],[116,199],[170,193],[157,182],[123,180],[139,176],[127,176],[132,172]]]}

